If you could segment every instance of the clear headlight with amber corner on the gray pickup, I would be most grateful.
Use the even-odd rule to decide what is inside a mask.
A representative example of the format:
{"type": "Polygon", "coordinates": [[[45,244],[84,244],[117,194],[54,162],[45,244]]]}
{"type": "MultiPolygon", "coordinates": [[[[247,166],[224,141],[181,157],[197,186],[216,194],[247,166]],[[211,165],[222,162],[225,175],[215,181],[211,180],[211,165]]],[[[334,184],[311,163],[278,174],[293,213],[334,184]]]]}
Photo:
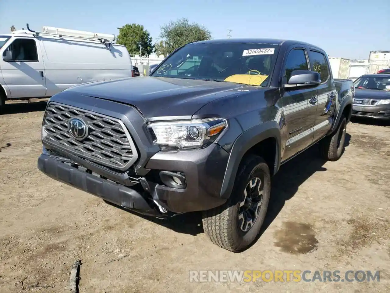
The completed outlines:
{"type": "Polygon", "coordinates": [[[181,150],[202,148],[216,141],[227,121],[221,118],[207,118],[191,121],[155,122],[147,128],[156,145],[176,146],[181,150]]]}

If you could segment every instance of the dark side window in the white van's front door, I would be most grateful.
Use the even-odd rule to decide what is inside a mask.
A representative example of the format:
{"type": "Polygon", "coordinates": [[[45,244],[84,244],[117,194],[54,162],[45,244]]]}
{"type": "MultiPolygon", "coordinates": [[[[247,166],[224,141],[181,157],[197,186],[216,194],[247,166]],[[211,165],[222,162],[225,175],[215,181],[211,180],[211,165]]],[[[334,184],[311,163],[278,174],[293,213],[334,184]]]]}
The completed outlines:
{"type": "MultiPolygon", "coordinates": [[[[16,39],[9,45],[7,50],[12,50],[14,61],[38,61],[37,45],[34,39],[16,39]]],[[[5,56],[7,50],[4,51],[3,56],[5,56]]]]}

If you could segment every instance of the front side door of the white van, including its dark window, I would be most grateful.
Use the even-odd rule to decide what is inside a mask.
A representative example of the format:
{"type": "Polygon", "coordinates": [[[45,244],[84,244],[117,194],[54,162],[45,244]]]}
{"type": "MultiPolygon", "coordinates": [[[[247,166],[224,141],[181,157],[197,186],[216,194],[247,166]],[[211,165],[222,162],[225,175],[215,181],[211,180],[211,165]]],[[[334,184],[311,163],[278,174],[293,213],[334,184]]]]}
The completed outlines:
{"type": "Polygon", "coordinates": [[[46,96],[46,78],[41,47],[35,38],[16,38],[0,59],[4,82],[12,98],[46,96]],[[7,51],[12,59],[5,61],[7,51]]]}

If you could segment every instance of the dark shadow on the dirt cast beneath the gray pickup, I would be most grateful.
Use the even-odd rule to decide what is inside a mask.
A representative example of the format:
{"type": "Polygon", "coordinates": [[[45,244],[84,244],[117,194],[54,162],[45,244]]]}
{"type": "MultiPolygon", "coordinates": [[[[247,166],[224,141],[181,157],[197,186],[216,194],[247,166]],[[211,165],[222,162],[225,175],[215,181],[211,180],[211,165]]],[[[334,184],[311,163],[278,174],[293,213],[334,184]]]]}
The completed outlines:
{"type": "MultiPolygon", "coordinates": [[[[349,146],[350,140],[351,135],[347,133],[344,147],[349,146]]],[[[314,145],[280,167],[280,170],[273,177],[271,182],[271,198],[266,218],[257,239],[252,245],[255,245],[257,240],[261,238],[262,234],[268,229],[269,225],[275,220],[280,211],[282,211],[285,202],[297,193],[299,186],[314,173],[326,171],[326,168],[323,167],[325,163],[326,160],[321,159],[318,154],[318,145],[314,145]]],[[[126,209],[123,210],[128,211],[126,209]]],[[[128,212],[178,233],[190,234],[193,236],[204,233],[202,215],[200,212],[180,214],[163,220],[140,215],[132,211],[128,212]]]]}

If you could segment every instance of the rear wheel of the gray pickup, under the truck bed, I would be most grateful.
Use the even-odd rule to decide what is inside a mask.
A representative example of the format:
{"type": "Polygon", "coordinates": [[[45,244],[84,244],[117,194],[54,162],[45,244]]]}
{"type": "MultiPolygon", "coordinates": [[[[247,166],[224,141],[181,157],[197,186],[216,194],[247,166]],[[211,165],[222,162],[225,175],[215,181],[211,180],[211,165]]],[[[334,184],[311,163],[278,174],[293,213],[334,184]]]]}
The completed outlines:
{"type": "Polygon", "coordinates": [[[347,119],[342,115],[337,130],[319,142],[320,154],[323,159],[327,161],[337,161],[340,159],[344,151],[346,131],[347,119]]]}

